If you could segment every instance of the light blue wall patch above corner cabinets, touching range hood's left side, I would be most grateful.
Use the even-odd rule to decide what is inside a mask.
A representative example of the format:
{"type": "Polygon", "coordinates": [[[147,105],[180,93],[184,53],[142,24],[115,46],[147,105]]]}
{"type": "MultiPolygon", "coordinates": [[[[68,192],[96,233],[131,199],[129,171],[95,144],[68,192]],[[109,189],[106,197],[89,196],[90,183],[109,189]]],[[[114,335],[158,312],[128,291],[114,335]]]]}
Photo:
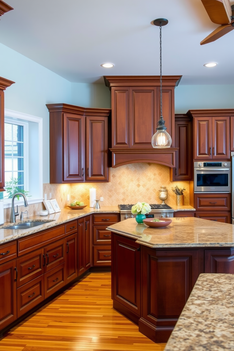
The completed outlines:
{"type": "Polygon", "coordinates": [[[82,107],[110,108],[111,93],[104,84],[72,83],[72,104],[82,107]]]}

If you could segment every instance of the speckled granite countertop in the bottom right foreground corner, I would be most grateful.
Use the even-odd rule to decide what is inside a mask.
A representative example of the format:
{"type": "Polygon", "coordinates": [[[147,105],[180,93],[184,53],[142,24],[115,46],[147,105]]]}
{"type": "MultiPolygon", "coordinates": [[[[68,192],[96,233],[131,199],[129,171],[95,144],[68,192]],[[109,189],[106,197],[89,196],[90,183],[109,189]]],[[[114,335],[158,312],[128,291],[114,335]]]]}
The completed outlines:
{"type": "Polygon", "coordinates": [[[164,351],[234,350],[234,274],[200,274],[164,351]]]}

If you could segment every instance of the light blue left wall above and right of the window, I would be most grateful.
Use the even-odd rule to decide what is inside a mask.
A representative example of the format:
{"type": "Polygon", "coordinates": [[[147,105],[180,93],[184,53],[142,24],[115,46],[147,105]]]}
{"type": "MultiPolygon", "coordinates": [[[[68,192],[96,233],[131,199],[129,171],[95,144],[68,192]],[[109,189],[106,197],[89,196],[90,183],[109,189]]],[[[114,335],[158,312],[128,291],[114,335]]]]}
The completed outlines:
{"type": "Polygon", "coordinates": [[[49,112],[46,104],[71,104],[71,82],[0,44],[0,76],[15,84],[5,90],[5,108],[43,118],[43,183],[49,183],[49,112]]]}

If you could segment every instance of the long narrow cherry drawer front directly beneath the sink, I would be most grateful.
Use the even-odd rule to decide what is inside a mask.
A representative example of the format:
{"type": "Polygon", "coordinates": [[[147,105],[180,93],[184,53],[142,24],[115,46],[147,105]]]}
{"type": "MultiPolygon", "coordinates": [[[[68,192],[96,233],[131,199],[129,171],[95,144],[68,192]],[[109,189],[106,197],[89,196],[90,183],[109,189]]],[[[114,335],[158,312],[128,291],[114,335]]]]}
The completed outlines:
{"type": "Polygon", "coordinates": [[[58,226],[51,230],[45,230],[39,234],[29,235],[24,239],[18,240],[18,256],[39,249],[55,240],[65,237],[65,226],[58,226]]]}

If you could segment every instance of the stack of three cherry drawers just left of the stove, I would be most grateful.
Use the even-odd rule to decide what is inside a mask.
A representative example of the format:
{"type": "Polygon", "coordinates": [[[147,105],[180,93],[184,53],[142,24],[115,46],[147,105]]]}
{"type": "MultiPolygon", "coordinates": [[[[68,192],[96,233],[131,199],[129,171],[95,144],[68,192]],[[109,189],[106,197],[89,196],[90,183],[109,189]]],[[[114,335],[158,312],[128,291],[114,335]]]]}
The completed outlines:
{"type": "Polygon", "coordinates": [[[93,266],[111,265],[111,232],[106,228],[119,221],[117,213],[93,214],[92,253],[93,266]]]}

